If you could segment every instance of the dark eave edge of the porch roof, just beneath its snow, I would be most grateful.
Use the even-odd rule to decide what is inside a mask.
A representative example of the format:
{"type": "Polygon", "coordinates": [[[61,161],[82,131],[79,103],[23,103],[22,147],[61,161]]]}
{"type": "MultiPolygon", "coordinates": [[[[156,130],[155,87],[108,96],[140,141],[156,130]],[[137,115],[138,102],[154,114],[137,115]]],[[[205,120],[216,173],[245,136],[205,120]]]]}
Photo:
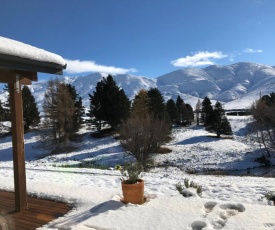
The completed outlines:
{"type": "Polygon", "coordinates": [[[0,69],[62,75],[63,69],[66,69],[66,65],[62,66],[52,62],[36,61],[0,53],[0,69]]]}

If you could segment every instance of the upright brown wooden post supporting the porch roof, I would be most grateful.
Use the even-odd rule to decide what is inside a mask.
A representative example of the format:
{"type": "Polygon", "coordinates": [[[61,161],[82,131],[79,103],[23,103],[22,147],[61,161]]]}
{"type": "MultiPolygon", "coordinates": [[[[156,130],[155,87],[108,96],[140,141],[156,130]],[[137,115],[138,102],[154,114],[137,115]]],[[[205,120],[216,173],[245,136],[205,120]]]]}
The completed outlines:
{"type": "MultiPolygon", "coordinates": [[[[19,78],[16,76],[16,80],[19,78]]],[[[19,82],[9,83],[11,121],[12,121],[12,145],[13,145],[13,171],[15,210],[21,212],[28,208],[26,169],[24,153],[24,123],[22,92],[19,82]]]]}

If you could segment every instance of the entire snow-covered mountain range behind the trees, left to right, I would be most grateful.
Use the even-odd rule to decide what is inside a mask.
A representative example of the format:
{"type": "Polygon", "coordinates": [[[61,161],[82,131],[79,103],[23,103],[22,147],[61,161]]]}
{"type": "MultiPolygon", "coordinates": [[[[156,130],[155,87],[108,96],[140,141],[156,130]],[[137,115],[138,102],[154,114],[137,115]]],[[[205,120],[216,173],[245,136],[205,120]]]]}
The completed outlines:
{"type": "MultiPolygon", "coordinates": [[[[87,76],[63,77],[66,83],[76,87],[83,104],[89,107],[89,94],[93,94],[98,81],[106,75],[94,73],[87,76]]],[[[262,95],[275,91],[275,67],[240,62],[228,66],[212,65],[206,68],[186,68],[151,79],[130,74],[113,77],[129,98],[140,89],[157,87],[166,100],[174,100],[180,95],[193,107],[198,98],[205,96],[213,101],[221,101],[226,109],[245,109],[262,95]]],[[[38,81],[30,86],[41,108],[47,81],[38,81]]],[[[0,99],[6,97],[0,92],[0,99]]]]}

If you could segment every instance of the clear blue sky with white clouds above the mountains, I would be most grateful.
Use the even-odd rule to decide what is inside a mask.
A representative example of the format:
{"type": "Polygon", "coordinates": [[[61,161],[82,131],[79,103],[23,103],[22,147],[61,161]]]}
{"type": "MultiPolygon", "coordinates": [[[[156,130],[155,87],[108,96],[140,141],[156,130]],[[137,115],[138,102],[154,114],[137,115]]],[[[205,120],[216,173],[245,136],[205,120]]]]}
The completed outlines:
{"type": "Polygon", "coordinates": [[[274,0],[10,0],[0,36],[61,55],[67,76],[275,66],[274,0]]]}

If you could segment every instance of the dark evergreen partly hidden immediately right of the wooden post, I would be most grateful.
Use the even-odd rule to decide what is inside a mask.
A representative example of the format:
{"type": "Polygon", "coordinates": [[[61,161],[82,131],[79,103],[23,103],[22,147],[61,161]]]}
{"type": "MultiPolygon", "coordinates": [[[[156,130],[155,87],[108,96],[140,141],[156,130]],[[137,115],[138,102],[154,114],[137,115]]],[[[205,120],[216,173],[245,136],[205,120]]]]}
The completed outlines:
{"type": "Polygon", "coordinates": [[[22,101],[24,128],[28,130],[31,125],[35,126],[40,122],[37,104],[28,86],[23,86],[22,101]]]}

